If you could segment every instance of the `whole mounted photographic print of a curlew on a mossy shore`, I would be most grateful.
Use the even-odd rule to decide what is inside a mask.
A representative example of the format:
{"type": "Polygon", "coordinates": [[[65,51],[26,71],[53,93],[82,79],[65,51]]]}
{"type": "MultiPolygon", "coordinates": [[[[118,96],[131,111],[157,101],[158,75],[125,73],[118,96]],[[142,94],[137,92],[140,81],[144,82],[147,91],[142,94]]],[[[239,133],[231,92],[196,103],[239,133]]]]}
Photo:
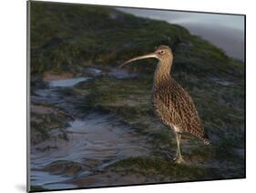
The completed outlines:
{"type": "Polygon", "coordinates": [[[27,189],[245,178],[245,15],[27,2],[27,189]]]}

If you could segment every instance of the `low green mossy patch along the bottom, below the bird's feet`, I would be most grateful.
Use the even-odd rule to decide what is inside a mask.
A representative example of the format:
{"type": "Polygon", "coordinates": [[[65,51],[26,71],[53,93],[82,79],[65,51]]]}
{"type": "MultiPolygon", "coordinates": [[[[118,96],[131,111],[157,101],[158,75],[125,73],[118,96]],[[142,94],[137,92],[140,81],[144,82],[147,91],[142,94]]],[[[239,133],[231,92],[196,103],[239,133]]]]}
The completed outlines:
{"type": "Polygon", "coordinates": [[[145,176],[164,176],[169,181],[200,180],[220,178],[213,168],[195,165],[179,165],[162,157],[128,157],[111,165],[109,168],[118,172],[127,171],[145,176]]]}

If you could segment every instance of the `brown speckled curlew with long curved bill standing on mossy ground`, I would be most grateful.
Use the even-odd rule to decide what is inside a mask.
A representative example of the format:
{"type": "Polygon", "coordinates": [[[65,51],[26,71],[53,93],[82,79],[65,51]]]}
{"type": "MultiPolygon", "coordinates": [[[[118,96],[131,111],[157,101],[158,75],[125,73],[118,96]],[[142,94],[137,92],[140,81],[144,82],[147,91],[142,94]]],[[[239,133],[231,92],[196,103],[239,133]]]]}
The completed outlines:
{"type": "Polygon", "coordinates": [[[155,52],[129,59],[119,67],[149,57],[159,60],[154,73],[152,92],[154,111],[164,125],[175,132],[177,151],[174,160],[176,163],[184,163],[179,147],[182,134],[189,133],[194,137],[199,137],[205,145],[209,145],[210,142],[191,96],[171,76],[173,55],[169,46],[159,46],[155,52]]]}

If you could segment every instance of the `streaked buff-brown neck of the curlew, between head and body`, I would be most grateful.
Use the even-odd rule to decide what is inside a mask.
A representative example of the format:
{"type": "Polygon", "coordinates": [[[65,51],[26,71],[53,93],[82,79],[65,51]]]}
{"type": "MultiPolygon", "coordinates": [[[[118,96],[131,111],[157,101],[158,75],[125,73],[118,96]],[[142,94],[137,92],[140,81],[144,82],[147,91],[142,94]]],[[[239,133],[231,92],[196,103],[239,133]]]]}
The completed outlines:
{"type": "Polygon", "coordinates": [[[162,82],[170,79],[171,64],[162,64],[159,62],[154,74],[154,86],[160,85],[162,82]]]}

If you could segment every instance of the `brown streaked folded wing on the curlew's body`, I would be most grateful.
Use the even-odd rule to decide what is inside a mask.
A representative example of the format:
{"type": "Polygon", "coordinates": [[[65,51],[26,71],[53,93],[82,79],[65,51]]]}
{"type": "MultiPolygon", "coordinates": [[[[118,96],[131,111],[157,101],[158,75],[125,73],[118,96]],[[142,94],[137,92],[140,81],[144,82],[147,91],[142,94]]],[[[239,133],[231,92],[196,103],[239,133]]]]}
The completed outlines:
{"type": "Polygon", "coordinates": [[[165,111],[169,112],[169,122],[182,127],[195,137],[204,137],[204,129],[200,123],[198,111],[189,93],[174,80],[171,84],[159,86],[158,96],[165,111]],[[171,120],[170,120],[171,119],[171,120]]]}

